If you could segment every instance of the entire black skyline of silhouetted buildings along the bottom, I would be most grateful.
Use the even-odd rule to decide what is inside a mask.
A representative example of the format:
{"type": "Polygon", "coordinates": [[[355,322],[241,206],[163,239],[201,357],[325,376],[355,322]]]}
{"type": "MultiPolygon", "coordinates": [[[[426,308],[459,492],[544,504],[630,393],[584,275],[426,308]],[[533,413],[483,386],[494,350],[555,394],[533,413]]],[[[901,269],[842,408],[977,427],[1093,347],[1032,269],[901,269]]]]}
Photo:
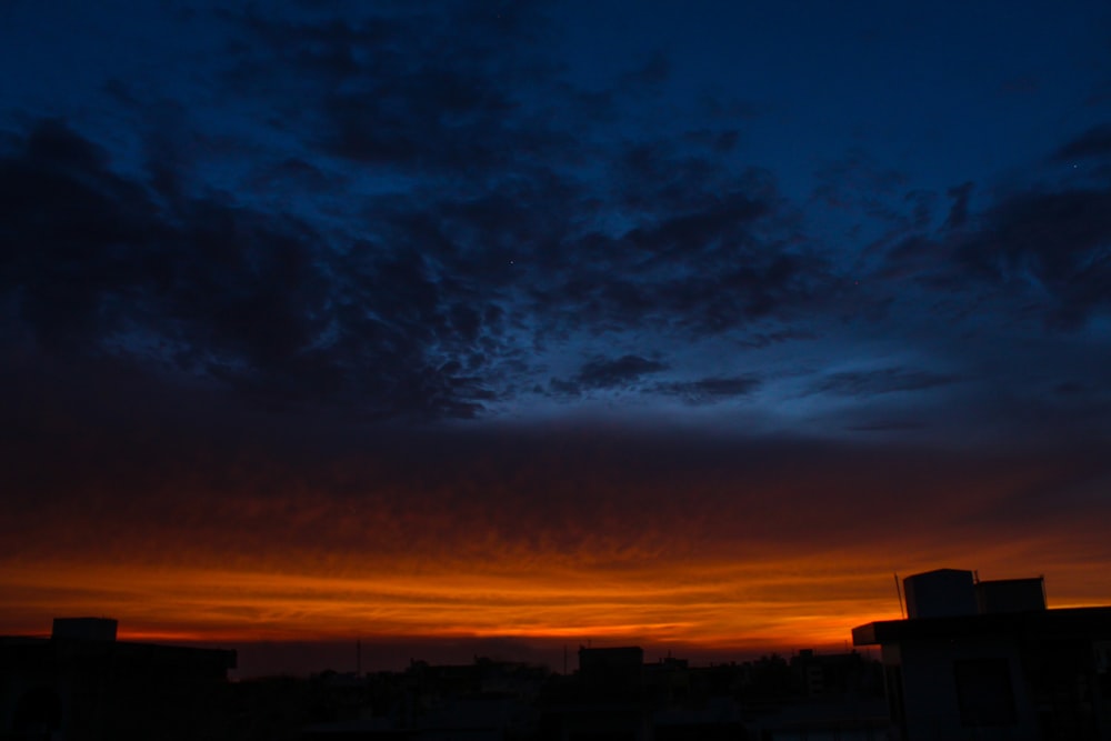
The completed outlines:
{"type": "Polygon", "coordinates": [[[414,739],[1111,741],[1111,607],[1049,609],[1044,580],[939,569],[869,652],[691,667],[580,648],[578,671],[476,657],[403,672],[228,682],[233,651],[117,640],[102,618],[0,638],[0,741],[414,739]]]}

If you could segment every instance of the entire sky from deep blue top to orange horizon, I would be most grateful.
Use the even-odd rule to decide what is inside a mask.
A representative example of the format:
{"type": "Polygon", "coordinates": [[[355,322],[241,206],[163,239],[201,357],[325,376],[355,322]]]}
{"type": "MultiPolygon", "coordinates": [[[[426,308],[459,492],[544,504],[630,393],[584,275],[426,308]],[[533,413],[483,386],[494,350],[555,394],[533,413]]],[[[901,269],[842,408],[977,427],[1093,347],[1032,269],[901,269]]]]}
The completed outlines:
{"type": "Polygon", "coordinates": [[[1111,603],[1107,3],[0,29],[0,633],[725,660],[894,573],[1111,603]]]}

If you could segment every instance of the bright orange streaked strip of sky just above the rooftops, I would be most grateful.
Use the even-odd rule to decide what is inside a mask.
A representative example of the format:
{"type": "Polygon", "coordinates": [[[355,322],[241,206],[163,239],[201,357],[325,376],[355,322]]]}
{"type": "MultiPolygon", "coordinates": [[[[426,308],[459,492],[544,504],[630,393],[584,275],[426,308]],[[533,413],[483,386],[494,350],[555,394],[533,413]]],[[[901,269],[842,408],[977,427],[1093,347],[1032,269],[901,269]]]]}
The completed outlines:
{"type": "MultiPolygon", "coordinates": [[[[994,559],[1013,565],[1014,551],[979,557],[958,565],[994,559]]],[[[10,599],[9,632],[41,633],[51,615],[91,614],[119,619],[122,640],[508,637],[693,647],[725,655],[842,645],[853,625],[898,618],[891,572],[869,570],[865,560],[653,562],[618,574],[512,565],[413,573],[367,564],[362,577],[297,572],[292,563],[288,571],[262,571],[57,562],[6,564],[0,584],[10,599]]],[[[1093,601],[1082,592],[1082,570],[1058,574],[1050,577],[1051,590],[1062,588],[1069,603],[1093,601]]]]}

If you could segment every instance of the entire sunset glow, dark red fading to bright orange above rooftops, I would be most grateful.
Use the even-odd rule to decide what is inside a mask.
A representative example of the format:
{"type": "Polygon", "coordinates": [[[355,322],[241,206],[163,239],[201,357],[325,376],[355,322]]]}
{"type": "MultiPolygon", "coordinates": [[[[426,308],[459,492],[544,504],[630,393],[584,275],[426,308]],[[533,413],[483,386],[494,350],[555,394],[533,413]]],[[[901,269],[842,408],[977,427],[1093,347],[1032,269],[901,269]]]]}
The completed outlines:
{"type": "Polygon", "coordinates": [[[655,470],[652,450],[552,450],[311,475],[224,462],[214,479],[202,461],[28,499],[0,521],[0,633],[103,615],[124,640],[598,641],[729,660],[843,647],[899,617],[894,572],[1045,574],[1051,607],[1111,604],[1083,461],[791,449],[738,468],[730,449],[655,470]]]}

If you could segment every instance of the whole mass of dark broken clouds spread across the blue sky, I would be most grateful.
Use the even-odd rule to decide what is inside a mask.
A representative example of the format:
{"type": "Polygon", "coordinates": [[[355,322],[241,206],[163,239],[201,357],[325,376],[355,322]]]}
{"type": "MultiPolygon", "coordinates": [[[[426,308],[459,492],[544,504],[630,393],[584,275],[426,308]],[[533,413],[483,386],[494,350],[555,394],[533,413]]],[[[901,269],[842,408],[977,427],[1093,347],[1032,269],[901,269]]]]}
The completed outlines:
{"type": "MultiPolygon", "coordinates": [[[[839,321],[927,321],[912,302],[960,321],[985,294],[992,311],[1035,311],[1032,282],[1058,323],[1107,306],[1097,187],[977,212],[969,181],[949,190],[939,224],[938,193],[907,192],[902,170],[851,150],[820,170],[808,208],[882,223],[854,263],[857,248],[740,159],[748,119],[635,126],[645,109],[630,101],[674,73],[665,54],[588,93],[543,58],[540,3],[383,8],[220,11],[234,39],[222,94],[267,132],[240,142],[250,162],[229,181],[241,190],[190,177],[183,152],[200,137],[181,101],[146,106],[142,174],[58,121],[17,137],[0,187],[12,196],[4,233],[21,244],[2,263],[20,328],[42,347],[128,357],[262,404],[436,419],[543,388],[541,356],[556,349],[571,368],[588,359],[551,381],[571,397],[650,373],[658,392],[688,400],[758,382],[677,381],[669,371],[691,369],[632,363],[657,362],[651,339],[629,346],[642,354],[590,360],[608,336],[761,349],[839,321]],[[284,143],[269,149],[270,136],[284,143]]],[[[878,373],[822,390],[924,382],[878,373]]]]}

